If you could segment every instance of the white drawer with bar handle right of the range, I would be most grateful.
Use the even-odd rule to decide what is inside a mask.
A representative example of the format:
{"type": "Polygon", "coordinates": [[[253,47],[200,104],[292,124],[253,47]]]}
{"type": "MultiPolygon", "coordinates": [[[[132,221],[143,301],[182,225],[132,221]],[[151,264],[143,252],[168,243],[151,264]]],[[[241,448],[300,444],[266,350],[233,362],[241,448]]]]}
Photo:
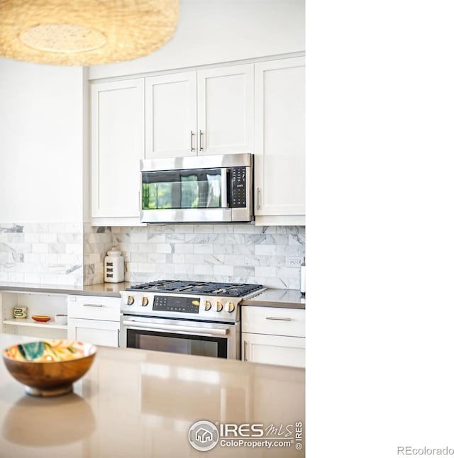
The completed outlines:
{"type": "Polygon", "coordinates": [[[306,311],[297,308],[241,307],[243,333],[305,337],[306,311]]]}

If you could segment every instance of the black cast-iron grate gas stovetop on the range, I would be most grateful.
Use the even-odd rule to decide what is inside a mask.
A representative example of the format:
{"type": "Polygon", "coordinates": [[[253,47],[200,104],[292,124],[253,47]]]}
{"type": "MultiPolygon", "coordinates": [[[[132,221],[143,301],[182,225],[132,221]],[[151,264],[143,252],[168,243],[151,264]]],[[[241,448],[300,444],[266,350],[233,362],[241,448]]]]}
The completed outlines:
{"type": "Polygon", "coordinates": [[[216,283],[213,281],[159,280],[133,285],[126,291],[143,291],[178,294],[204,294],[223,297],[244,297],[263,289],[259,284],[216,283]]]}

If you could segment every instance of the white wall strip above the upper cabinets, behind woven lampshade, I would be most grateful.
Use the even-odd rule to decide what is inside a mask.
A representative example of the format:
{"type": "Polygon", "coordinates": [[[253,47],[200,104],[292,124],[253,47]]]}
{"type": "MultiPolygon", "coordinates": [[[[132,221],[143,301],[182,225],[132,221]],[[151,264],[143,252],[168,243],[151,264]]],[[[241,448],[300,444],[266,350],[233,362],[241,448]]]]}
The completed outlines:
{"type": "Polygon", "coordinates": [[[89,79],[305,50],[305,0],[181,0],[174,38],[153,54],[89,68],[89,79]]]}

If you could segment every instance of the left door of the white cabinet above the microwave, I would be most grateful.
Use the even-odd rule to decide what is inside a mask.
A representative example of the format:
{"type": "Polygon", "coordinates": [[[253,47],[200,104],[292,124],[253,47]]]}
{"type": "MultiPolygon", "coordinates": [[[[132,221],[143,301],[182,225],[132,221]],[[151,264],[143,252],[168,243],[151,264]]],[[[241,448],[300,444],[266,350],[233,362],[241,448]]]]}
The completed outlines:
{"type": "Polygon", "coordinates": [[[196,72],[145,78],[145,157],[196,155],[196,72]]]}

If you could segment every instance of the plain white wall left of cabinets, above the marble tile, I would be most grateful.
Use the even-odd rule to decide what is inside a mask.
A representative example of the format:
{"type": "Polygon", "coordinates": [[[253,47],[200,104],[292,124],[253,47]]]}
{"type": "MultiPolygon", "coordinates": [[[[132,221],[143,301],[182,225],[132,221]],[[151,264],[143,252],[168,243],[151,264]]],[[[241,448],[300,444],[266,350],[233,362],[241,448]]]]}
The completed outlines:
{"type": "Polygon", "coordinates": [[[1,223],[82,223],[82,70],[0,58],[1,223]]]}

